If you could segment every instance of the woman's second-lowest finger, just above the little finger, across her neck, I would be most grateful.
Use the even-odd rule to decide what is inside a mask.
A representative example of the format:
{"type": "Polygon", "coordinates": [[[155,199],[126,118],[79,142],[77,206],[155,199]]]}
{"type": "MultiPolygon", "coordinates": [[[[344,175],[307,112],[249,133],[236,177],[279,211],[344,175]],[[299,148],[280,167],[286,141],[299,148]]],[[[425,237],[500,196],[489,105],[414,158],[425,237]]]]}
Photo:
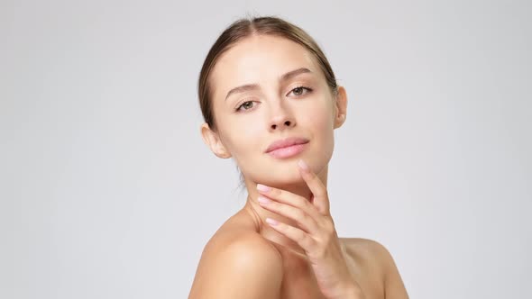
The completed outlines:
{"type": "Polygon", "coordinates": [[[291,206],[289,204],[281,204],[263,196],[259,196],[258,201],[262,208],[297,222],[299,228],[301,228],[303,231],[306,231],[311,235],[318,234],[319,231],[316,220],[297,207],[291,206]]]}

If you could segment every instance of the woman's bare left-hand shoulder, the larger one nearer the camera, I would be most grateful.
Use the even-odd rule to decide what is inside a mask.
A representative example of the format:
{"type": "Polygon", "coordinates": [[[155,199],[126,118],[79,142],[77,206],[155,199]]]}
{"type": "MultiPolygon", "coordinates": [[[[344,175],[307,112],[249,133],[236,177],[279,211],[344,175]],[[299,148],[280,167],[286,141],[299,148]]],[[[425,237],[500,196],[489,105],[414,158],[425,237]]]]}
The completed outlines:
{"type": "Polygon", "coordinates": [[[282,259],[271,242],[225,223],[202,252],[188,298],[278,298],[281,281],[282,259]]]}

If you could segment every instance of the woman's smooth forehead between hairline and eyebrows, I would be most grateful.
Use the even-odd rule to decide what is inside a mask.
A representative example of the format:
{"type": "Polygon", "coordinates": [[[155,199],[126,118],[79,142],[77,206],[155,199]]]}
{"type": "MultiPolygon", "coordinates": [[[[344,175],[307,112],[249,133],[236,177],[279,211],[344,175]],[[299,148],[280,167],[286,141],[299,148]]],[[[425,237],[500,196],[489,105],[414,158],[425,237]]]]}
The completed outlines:
{"type": "Polygon", "coordinates": [[[282,74],[297,68],[308,68],[313,76],[320,74],[312,55],[297,42],[254,35],[237,42],[218,59],[211,73],[212,91],[219,98],[234,86],[277,82],[282,74]]]}

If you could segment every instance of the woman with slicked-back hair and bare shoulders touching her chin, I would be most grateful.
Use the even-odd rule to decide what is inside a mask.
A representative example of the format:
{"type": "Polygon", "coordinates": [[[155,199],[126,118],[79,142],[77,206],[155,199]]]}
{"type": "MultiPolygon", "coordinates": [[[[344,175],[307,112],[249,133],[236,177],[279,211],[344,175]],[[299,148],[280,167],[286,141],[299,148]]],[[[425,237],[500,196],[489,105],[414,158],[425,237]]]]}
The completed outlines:
{"type": "Polygon", "coordinates": [[[306,32],[276,17],[233,23],[198,95],[202,138],[234,159],[248,196],[206,244],[190,299],[408,298],[387,249],[336,234],[327,166],[347,96],[306,32]]]}

